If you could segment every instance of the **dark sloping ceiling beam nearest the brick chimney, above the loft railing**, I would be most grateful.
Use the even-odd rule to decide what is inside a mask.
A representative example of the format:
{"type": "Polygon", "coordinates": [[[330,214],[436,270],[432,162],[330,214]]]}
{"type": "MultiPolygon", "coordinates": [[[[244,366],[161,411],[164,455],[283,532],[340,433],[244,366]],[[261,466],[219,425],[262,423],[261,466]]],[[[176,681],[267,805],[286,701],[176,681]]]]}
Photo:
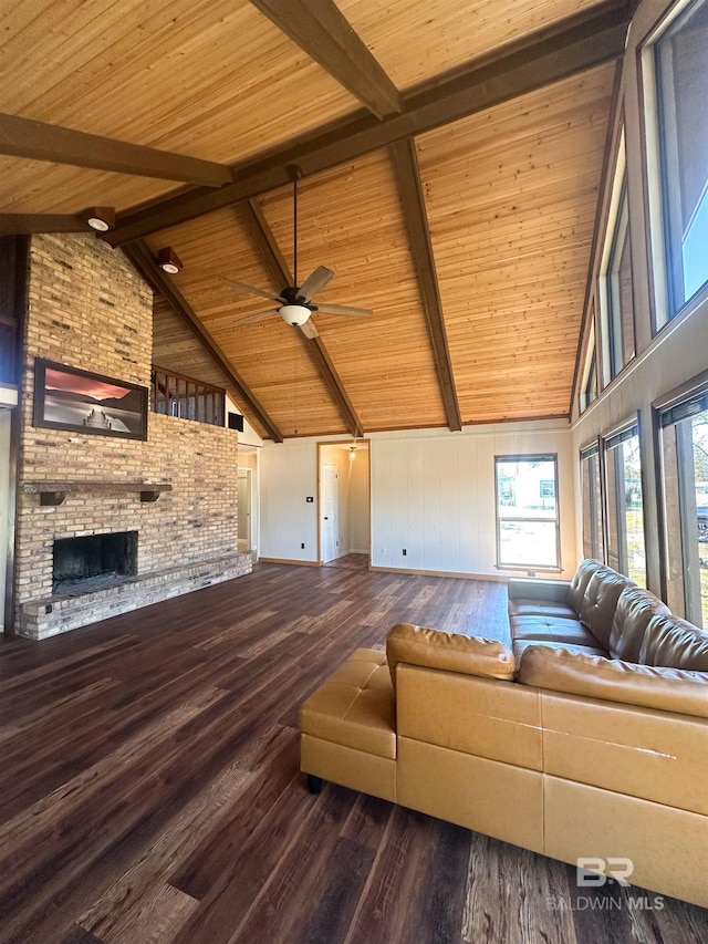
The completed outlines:
{"type": "Polygon", "coordinates": [[[159,292],[167,300],[177,314],[187,322],[197,338],[199,338],[201,343],[207,347],[211,356],[219,364],[230,383],[233,385],[239,400],[239,405],[243,412],[250,414],[249,418],[256,419],[256,422],[268,433],[271,439],[275,443],[282,443],[283,434],[266,413],[241,377],[236,373],[230,361],[219,344],[215,341],[211,333],[204,326],[187,299],[181,294],[170,277],[166,276],[157,266],[157,262],[147,246],[145,246],[144,242],[134,242],[131,246],[126,246],[124,252],[150,288],[156,292],[159,292]]]}

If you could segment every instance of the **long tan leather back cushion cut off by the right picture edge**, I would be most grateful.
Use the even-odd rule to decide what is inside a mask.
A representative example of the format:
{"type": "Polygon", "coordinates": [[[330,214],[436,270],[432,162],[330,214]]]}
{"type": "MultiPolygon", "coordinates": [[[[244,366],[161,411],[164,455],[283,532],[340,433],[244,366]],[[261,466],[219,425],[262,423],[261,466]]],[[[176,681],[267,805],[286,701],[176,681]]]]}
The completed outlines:
{"type": "Polygon", "coordinates": [[[638,665],[538,645],[523,653],[518,681],[569,695],[708,718],[708,672],[638,665]]]}

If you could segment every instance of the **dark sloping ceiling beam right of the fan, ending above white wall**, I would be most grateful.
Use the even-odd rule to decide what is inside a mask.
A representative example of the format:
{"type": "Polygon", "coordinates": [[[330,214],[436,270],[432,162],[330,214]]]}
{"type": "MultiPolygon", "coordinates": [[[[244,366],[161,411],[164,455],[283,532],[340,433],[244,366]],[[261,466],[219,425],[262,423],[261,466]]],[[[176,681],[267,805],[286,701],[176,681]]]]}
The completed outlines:
{"type": "Polygon", "coordinates": [[[430,345],[435,357],[435,366],[440,385],[440,394],[445,404],[447,425],[454,432],[462,428],[460,406],[455,387],[452,361],[447,343],[442,302],[438,289],[438,279],[428,228],[428,217],[425,209],[425,198],[420,185],[416,146],[413,141],[400,141],[392,148],[396,164],[396,176],[400,191],[400,203],[406,217],[408,235],[413,249],[413,258],[418,273],[418,284],[423,298],[430,335],[430,345]]]}

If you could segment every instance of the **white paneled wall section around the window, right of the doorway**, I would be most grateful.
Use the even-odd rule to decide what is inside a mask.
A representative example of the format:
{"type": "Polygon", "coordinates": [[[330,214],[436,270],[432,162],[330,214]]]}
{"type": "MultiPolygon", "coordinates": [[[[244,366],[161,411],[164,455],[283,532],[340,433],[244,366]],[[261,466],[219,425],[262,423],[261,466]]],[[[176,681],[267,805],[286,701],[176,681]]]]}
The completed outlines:
{"type": "Polygon", "coordinates": [[[556,453],[562,575],[575,570],[573,463],[566,424],[375,433],[371,439],[372,566],[499,574],[494,456],[556,453]]]}

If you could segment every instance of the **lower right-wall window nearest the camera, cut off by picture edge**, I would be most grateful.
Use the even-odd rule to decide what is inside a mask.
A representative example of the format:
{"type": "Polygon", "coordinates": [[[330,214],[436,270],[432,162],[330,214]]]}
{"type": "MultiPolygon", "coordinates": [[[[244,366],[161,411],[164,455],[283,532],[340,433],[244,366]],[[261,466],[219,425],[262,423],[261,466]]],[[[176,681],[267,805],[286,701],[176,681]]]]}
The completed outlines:
{"type": "Polygon", "coordinates": [[[659,411],[666,602],[708,629],[708,385],[659,411]]]}

